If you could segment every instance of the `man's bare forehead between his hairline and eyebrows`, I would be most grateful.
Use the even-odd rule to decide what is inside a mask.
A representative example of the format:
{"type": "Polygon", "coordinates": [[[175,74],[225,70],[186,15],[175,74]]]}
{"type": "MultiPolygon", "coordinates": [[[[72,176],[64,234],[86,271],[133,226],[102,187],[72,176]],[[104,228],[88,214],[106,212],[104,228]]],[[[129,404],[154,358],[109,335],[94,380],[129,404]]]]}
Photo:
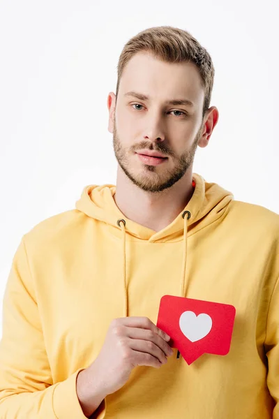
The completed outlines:
{"type": "Polygon", "coordinates": [[[188,98],[203,103],[202,78],[194,63],[167,63],[147,52],[137,52],[126,64],[119,82],[119,94],[138,91],[151,98],[188,98]]]}

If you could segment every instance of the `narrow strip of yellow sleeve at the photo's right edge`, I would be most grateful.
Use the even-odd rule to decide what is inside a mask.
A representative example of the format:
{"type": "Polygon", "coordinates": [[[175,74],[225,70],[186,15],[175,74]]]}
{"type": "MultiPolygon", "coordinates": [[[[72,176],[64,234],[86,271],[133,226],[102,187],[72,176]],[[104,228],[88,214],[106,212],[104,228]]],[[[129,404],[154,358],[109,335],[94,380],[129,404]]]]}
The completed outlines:
{"type": "Polygon", "coordinates": [[[267,386],[274,399],[273,419],[279,419],[279,278],[271,295],[266,323],[267,386]]]}

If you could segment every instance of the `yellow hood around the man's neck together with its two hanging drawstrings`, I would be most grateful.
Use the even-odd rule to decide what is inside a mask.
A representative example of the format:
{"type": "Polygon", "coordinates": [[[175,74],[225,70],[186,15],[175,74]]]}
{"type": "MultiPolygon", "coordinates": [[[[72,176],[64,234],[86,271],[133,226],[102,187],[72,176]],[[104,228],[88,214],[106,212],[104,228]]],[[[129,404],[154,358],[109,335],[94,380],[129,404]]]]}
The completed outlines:
{"type": "Polygon", "coordinates": [[[76,203],[77,210],[93,219],[107,223],[112,233],[121,237],[123,254],[123,315],[125,317],[128,316],[126,240],[147,240],[154,243],[181,240],[183,242],[181,297],[186,296],[187,238],[222,216],[227,210],[229,203],[234,199],[231,192],[226,191],[218,184],[206,182],[197,173],[193,173],[193,182],[195,190],[188,205],[176,216],[172,223],[158,232],[126,219],[113,198],[116,186],[112,184],[103,186],[89,185],[82,191],[82,196],[76,203]]]}

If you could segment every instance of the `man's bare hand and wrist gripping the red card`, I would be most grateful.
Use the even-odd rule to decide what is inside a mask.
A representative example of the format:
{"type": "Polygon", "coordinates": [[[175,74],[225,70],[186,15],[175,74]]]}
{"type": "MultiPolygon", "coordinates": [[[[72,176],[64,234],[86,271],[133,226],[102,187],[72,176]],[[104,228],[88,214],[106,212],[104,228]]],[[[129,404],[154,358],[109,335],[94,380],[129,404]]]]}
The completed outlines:
{"type": "Polygon", "coordinates": [[[96,360],[77,376],[77,396],[84,415],[128,381],[137,365],[160,368],[173,354],[169,337],[147,317],[115,318],[96,360]]]}

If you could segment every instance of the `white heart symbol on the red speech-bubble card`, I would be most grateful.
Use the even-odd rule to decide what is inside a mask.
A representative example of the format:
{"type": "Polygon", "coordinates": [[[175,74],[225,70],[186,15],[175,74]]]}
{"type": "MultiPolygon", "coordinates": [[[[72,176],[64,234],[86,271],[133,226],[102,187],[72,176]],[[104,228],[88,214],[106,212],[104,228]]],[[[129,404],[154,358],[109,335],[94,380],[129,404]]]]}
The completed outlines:
{"type": "Polygon", "coordinates": [[[208,314],[196,316],[193,311],[184,311],[179,318],[179,327],[184,336],[191,342],[196,342],[209,334],[212,318],[208,314]]]}

